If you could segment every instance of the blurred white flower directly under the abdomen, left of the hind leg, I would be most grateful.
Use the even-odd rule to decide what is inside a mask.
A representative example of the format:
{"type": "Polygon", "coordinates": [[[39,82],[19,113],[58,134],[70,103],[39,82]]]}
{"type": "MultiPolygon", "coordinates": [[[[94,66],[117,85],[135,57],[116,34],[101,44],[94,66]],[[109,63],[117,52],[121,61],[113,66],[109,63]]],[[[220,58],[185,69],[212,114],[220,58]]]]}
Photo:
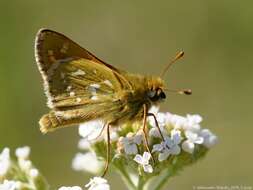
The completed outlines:
{"type": "Polygon", "coordinates": [[[103,126],[104,123],[101,120],[88,121],[79,126],[79,135],[89,141],[101,140],[102,138],[96,138],[98,138],[102,132],[103,126]]]}

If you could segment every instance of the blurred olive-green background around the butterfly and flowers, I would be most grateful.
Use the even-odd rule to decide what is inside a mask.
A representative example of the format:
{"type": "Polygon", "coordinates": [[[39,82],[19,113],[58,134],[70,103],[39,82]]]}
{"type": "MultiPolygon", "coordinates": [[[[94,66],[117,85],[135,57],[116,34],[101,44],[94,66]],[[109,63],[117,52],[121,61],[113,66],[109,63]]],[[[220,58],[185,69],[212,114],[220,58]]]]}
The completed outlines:
{"type": "MultiPolygon", "coordinates": [[[[116,67],[159,74],[178,50],[186,52],[168,72],[162,110],[199,113],[219,144],[165,189],[253,185],[253,2],[196,1],[0,1],[0,149],[32,147],[32,160],[53,188],[84,185],[91,175],[71,170],[77,128],[48,135],[38,120],[48,111],[34,60],[34,38],[46,27],[66,34],[116,67]]],[[[112,189],[125,189],[115,173],[112,189]]]]}

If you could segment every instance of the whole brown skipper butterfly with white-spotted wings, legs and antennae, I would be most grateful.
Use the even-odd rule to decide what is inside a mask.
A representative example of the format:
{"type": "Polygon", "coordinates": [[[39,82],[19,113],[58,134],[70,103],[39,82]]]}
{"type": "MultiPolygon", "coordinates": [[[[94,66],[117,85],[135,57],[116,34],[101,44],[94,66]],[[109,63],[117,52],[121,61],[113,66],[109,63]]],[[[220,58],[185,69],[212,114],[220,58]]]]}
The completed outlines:
{"type": "MultiPolygon", "coordinates": [[[[162,76],[182,56],[183,52],[179,52],[162,76]]],[[[145,144],[149,150],[146,119],[153,116],[159,129],[155,115],[148,110],[166,98],[162,77],[120,70],[65,35],[49,29],[37,33],[35,58],[43,78],[47,105],[51,109],[39,121],[42,133],[101,119],[107,129],[109,160],[109,128],[143,121],[145,144]]],[[[178,92],[191,94],[190,90],[178,92]]]]}

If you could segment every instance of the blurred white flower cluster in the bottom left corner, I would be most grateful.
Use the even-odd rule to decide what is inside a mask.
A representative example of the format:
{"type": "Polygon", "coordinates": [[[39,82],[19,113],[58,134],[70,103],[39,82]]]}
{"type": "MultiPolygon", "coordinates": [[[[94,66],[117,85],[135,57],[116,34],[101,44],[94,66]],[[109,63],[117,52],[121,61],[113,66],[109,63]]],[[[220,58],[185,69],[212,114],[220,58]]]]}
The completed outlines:
{"type": "Polygon", "coordinates": [[[11,159],[9,148],[4,148],[0,154],[0,190],[49,189],[29,159],[30,148],[17,148],[15,154],[16,159],[11,159]]]}

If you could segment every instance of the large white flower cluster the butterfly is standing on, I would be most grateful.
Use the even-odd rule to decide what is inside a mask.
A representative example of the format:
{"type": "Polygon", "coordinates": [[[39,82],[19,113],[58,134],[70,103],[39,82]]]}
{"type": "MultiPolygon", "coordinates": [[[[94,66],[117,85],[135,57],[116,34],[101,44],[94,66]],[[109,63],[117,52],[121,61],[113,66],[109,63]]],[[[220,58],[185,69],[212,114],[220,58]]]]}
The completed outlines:
{"type": "MultiPolygon", "coordinates": [[[[203,157],[218,140],[210,130],[201,128],[202,117],[199,115],[188,114],[182,117],[158,112],[157,109],[150,112],[155,114],[160,131],[154,118],[148,118],[149,149],[144,145],[141,123],[124,124],[110,129],[110,164],[131,189],[141,189],[151,177],[160,176],[163,183],[184,166],[203,157]]],[[[106,134],[103,126],[100,120],[80,125],[79,134],[82,138],[78,146],[84,153],[78,153],[73,159],[74,170],[96,175],[102,171],[106,161],[106,134]]],[[[90,189],[93,189],[92,186],[90,189]]]]}

